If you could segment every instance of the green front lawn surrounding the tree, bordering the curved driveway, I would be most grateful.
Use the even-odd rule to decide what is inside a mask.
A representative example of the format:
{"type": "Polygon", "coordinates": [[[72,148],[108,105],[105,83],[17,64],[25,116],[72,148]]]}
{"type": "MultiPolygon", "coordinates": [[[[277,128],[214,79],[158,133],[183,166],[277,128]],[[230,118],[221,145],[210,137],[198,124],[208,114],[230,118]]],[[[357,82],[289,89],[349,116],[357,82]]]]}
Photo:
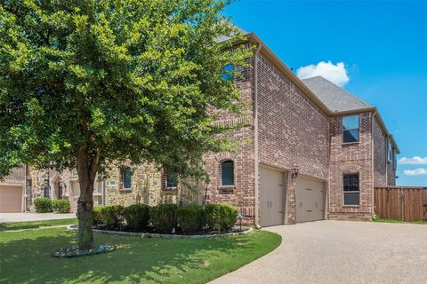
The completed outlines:
{"type": "Polygon", "coordinates": [[[76,232],[47,228],[0,233],[2,283],[205,283],[277,248],[275,233],[205,239],[143,239],[95,234],[117,250],[58,259],[57,248],[76,244],[76,232]]]}

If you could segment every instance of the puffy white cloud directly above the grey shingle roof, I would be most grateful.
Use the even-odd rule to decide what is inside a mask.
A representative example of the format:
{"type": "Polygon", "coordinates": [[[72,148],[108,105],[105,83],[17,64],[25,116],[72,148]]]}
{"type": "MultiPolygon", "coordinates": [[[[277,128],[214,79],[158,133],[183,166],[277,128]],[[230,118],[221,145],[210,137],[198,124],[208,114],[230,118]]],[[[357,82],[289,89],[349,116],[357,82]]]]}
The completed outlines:
{"type": "Polygon", "coordinates": [[[296,75],[300,79],[322,76],[339,86],[343,86],[350,81],[344,62],[334,64],[331,61],[320,61],[316,65],[311,64],[299,67],[298,70],[296,70],[296,75]]]}

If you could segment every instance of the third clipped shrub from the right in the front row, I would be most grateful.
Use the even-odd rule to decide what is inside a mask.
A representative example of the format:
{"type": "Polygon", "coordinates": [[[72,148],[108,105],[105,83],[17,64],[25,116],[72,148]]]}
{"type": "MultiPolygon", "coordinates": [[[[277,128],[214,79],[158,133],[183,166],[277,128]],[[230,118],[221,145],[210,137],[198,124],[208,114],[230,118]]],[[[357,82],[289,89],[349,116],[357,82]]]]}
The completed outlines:
{"type": "Polygon", "coordinates": [[[154,227],[163,232],[171,232],[176,227],[176,204],[160,204],[149,209],[154,227]]]}

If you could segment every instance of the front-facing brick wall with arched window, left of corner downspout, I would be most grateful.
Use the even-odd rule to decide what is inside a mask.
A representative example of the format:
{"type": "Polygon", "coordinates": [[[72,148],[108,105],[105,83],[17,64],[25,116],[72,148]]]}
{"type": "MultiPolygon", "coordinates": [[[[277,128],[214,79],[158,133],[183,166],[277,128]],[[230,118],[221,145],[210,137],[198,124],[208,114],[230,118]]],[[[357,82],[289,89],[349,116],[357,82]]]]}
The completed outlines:
{"type": "Polygon", "coordinates": [[[217,123],[222,125],[243,125],[230,134],[222,135],[235,143],[232,153],[210,153],[205,155],[205,167],[210,182],[205,187],[205,202],[230,202],[238,207],[245,223],[254,224],[254,60],[248,59],[247,67],[239,67],[243,77],[237,80],[241,98],[248,107],[243,114],[215,112],[221,114],[217,123]],[[234,162],[234,185],[221,186],[221,162],[234,162]]]}

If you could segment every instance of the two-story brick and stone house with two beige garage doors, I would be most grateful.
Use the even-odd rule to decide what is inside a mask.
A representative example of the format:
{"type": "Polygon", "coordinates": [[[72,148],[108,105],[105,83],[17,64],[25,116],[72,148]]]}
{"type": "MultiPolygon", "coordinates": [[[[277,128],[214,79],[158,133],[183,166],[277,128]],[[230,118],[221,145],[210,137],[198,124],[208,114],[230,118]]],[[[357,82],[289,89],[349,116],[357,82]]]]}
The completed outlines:
{"type": "MultiPolygon", "coordinates": [[[[395,185],[399,154],[377,109],[323,77],[298,79],[256,35],[241,31],[255,46],[235,80],[249,107],[220,113],[218,124],[241,127],[224,136],[238,142],[236,151],[205,155],[210,183],[184,185],[153,166],[125,165],[95,186],[98,202],[225,201],[246,223],[262,226],[372,217],[374,185],[395,185]]],[[[64,173],[50,174],[50,188],[68,183],[64,173]]],[[[38,180],[33,197],[44,193],[39,176],[28,175],[38,180]]],[[[73,180],[68,199],[77,194],[73,180]]]]}

